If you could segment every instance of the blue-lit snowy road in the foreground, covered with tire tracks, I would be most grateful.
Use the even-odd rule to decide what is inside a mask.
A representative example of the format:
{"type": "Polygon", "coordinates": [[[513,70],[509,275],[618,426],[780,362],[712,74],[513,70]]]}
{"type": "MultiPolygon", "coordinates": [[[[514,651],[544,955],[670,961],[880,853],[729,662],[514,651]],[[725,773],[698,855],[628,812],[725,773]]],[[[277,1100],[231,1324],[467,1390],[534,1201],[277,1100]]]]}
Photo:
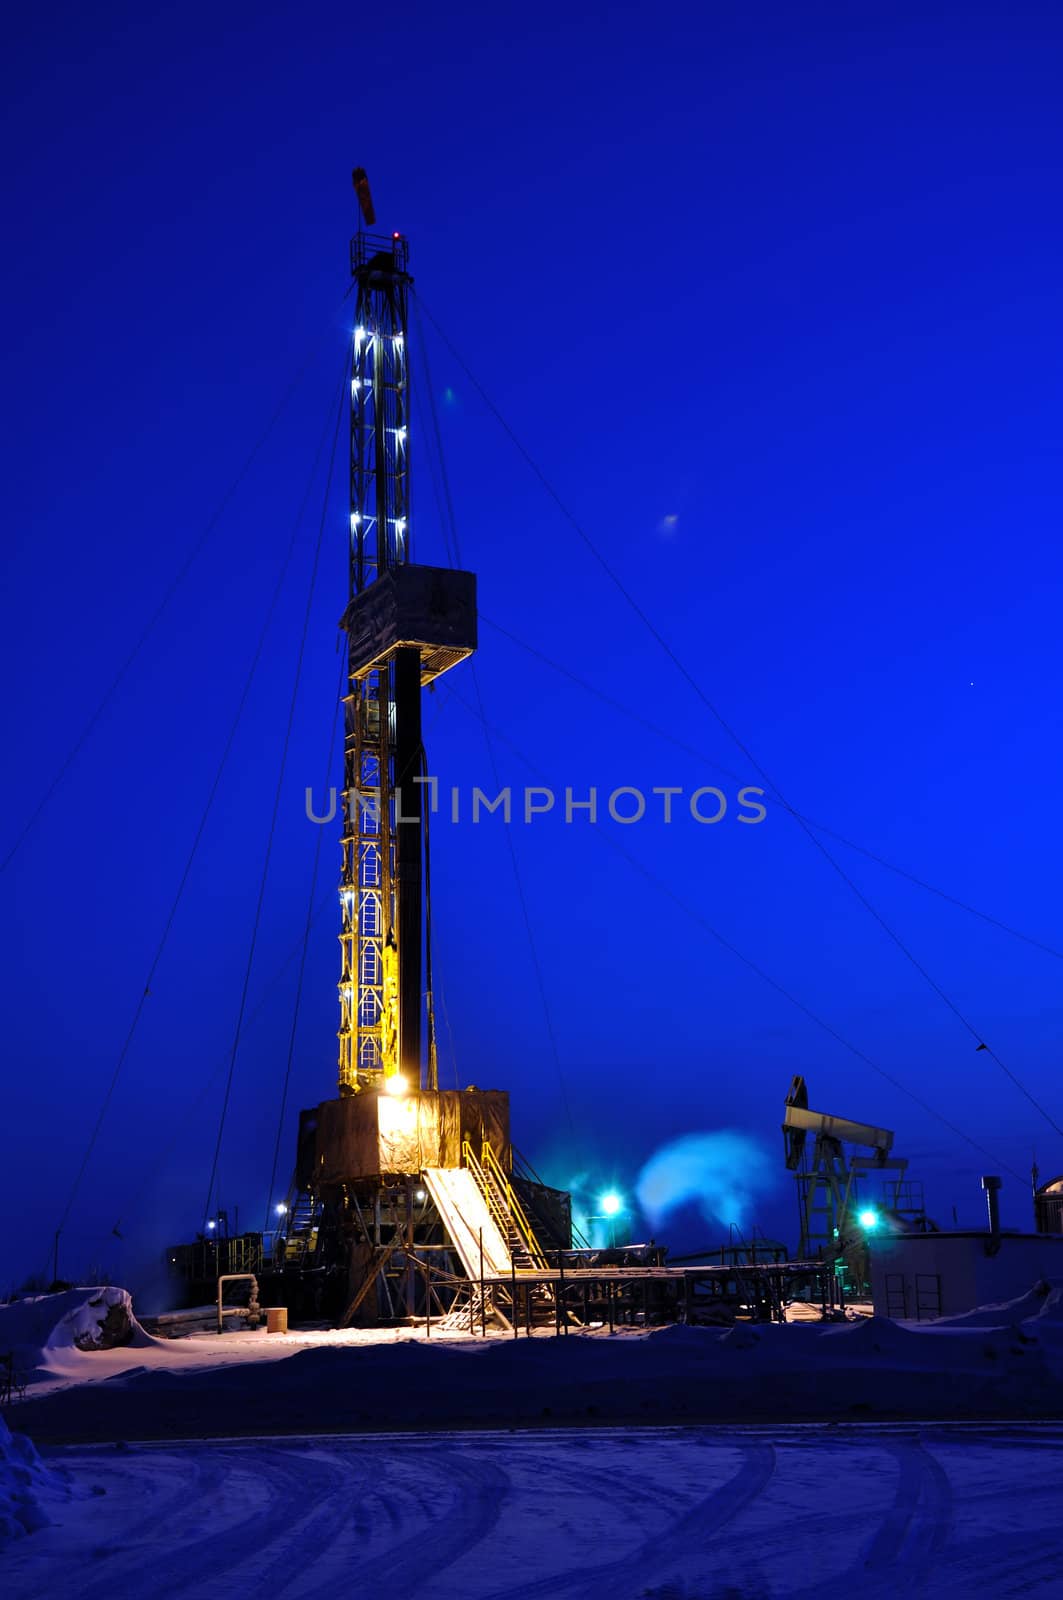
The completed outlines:
{"type": "Polygon", "coordinates": [[[1063,1429],[599,1429],[67,1446],[8,1600],[1063,1594],[1063,1429]]]}

